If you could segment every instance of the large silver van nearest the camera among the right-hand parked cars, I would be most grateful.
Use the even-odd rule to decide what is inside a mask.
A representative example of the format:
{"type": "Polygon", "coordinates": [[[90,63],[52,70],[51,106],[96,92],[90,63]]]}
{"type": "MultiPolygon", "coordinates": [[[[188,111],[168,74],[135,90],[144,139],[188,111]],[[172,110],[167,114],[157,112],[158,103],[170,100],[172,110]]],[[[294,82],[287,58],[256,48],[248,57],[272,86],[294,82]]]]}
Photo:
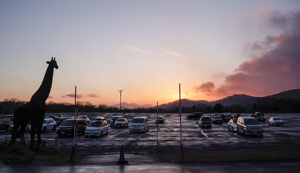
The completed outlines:
{"type": "Polygon", "coordinates": [[[263,135],[262,125],[254,117],[238,117],[236,125],[238,134],[242,133],[244,136],[263,135]]]}

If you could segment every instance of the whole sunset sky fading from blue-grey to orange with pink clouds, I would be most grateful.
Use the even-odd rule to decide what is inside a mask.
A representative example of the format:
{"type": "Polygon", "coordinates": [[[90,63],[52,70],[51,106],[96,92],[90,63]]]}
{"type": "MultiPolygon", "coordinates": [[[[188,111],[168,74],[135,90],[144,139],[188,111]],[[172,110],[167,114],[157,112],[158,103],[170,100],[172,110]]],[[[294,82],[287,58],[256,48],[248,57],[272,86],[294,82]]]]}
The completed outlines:
{"type": "Polygon", "coordinates": [[[300,88],[300,1],[0,1],[0,101],[156,105],[300,88]]]}

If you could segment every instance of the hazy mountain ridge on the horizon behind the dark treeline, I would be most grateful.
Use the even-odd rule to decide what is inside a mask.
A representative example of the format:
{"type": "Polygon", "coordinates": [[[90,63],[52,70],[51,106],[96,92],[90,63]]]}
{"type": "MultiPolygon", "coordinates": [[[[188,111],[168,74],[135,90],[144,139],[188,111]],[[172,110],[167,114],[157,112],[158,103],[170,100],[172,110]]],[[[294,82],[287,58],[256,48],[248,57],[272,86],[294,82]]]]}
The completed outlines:
{"type": "MultiPolygon", "coordinates": [[[[300,89],[293,89],[289,91],[283,91],[278,94],[273,94],[265,97],[253,97],[245,94],[234,94],[232,96],[224,97],[220,100],[215,101],[207,101],[207,100],[191,100],[191,99],[181,99],[181,106],[189,107],[193,105],[198,104],[205,104],[214,106],[217,103],[221,103],[223,106],[230,106],[230,105],[240,105],[240,106],[252,106],[254,103],[256,103],[259,99],[293,99],[293,100],[300,100],[300,89]]],[[[116,107],[119,107],[120,104],[113,105],[116,107]]],[[[121,106],[127,107],[129,109],[134,109],[134,107],[154,107],[151,104],[144,104],[144,105],[138,105],[136,103],[121,103],[121,106]]],[[[172,106],[179,106],[179,100],[175,100],[173,102],[164,103],[159,105],[158,107],[163,109],[168,109],[172,106]]]]}

